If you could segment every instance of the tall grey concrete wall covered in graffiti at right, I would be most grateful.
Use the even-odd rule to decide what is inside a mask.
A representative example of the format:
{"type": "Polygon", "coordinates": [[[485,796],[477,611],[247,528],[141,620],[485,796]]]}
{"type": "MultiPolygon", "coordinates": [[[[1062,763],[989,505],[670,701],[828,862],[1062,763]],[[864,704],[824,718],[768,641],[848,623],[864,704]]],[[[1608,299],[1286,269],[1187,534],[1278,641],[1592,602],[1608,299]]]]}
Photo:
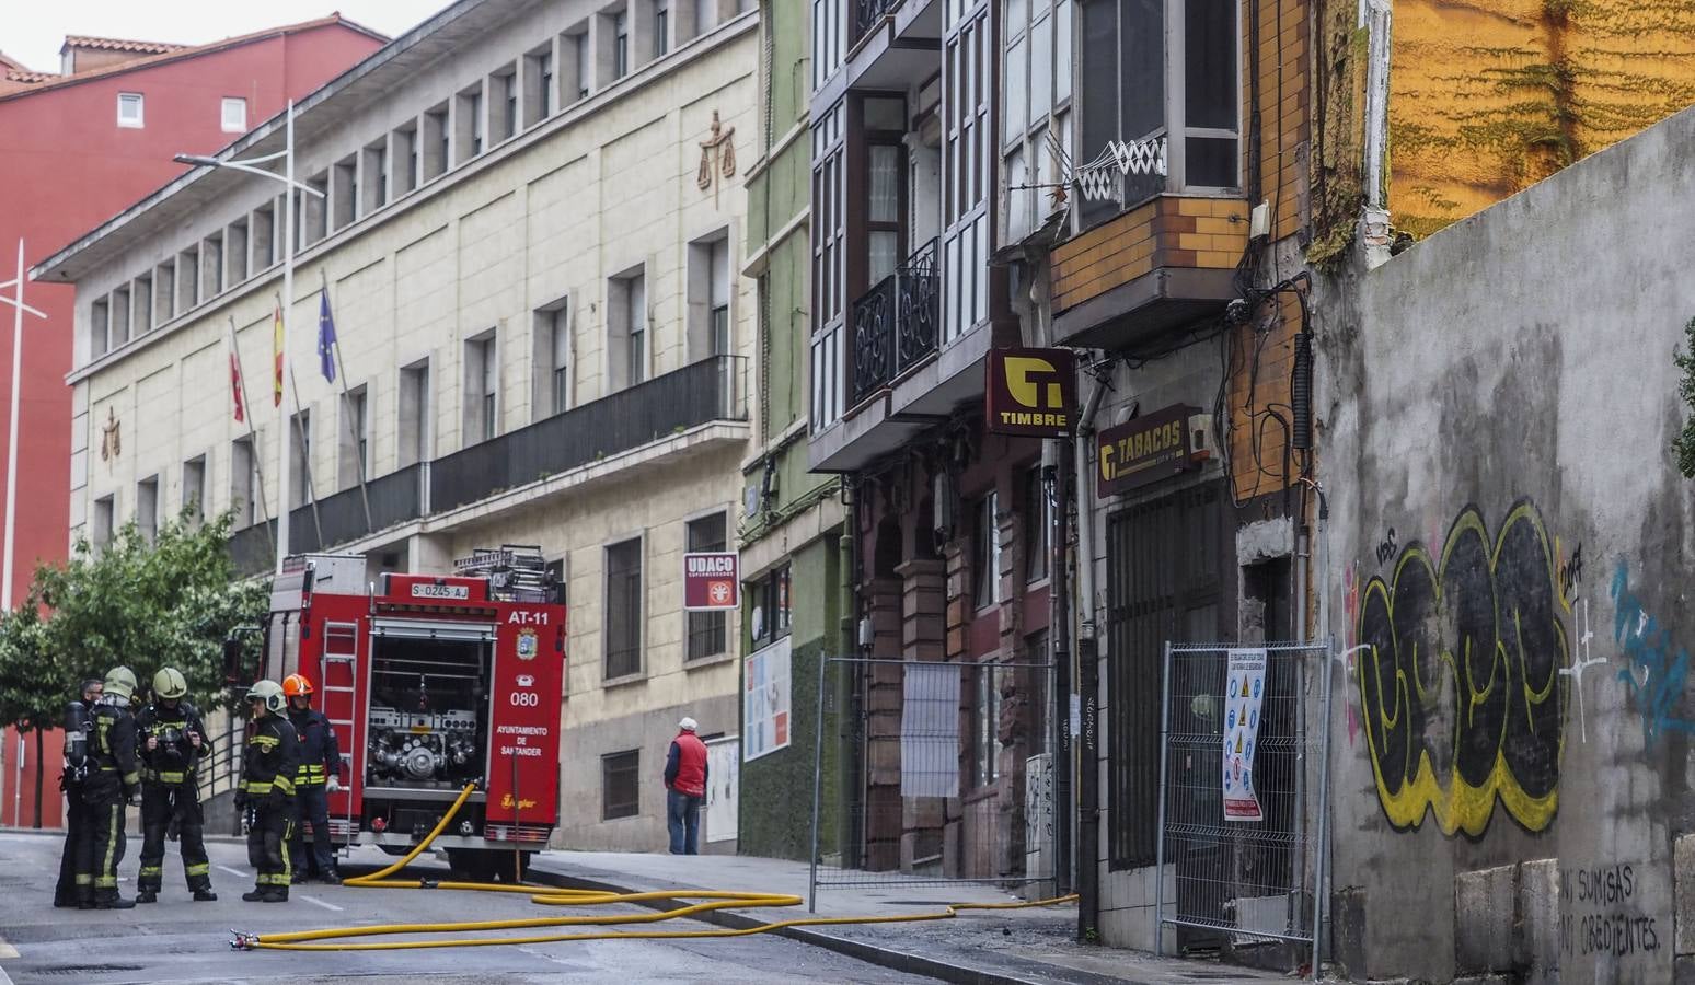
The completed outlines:
{"type": "Polygon", "coordinates": [[[1320,298],[1354,978],[1695,973],[1692,141],[1685,112],[1320,298]]]}

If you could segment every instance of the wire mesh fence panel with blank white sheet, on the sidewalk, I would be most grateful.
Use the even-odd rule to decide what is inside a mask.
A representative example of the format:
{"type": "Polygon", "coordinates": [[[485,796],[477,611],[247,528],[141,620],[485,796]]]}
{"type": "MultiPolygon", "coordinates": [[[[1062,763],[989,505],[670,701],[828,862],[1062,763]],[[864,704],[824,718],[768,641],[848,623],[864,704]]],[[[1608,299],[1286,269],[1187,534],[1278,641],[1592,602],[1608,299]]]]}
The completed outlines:
{"type": "Polygon", "coordinates": [[[819,888],[873,885],[1053,895],[1049,675],[1048,663],[822,658],[810,904],[819,888]]]}

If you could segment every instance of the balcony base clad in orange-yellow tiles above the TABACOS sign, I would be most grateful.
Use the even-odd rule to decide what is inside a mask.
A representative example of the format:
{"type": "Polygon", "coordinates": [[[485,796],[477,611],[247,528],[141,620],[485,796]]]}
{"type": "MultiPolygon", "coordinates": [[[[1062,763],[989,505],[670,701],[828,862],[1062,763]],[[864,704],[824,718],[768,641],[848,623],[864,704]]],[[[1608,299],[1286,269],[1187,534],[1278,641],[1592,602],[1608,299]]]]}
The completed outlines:
{"type": "Polygon", "coordinates": [[[1246,248],[1241,198],[1156,195],[1054,248],[1054,342],[1119,349],[1217,315],[1246,248]]]}

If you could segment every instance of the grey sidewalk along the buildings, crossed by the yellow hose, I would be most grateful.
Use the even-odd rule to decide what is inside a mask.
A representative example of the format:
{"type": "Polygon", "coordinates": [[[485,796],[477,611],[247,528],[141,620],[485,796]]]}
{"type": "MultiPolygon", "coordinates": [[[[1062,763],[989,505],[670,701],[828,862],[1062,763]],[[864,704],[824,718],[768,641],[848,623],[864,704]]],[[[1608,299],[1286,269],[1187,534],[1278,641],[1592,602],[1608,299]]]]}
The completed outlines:
{"type": "MultiPolygon", "coordinates": [[[[734,854],[544,851],[531,878],[570,888],[654,892],[678,888],[751,890],[807,899],[805,863],[734,854]]],[[[820,917],[929,914],[953,902],[1017,902],[1010,893],[975,885],[905,885],[819,888],[820,917]]],[[[670,909],[664,902],[653,904],[670,909]]],[[[673,904],[685,905],[685,904],[673,904]]],[[[790,910],[719,910],[697,919],[725,927],[753,927],[807,917],[790,910]]],[[[912,975],[971,985],[1075,982],[1085,985],[1197,985],[1207,982],[1287,982],[1287,975],[1209,961],[1156,958],[1142,951],[1078,944],[1076,905],[1025,910],[964,910],[951,921],[788,927],[786,938],[912,975]]]]}

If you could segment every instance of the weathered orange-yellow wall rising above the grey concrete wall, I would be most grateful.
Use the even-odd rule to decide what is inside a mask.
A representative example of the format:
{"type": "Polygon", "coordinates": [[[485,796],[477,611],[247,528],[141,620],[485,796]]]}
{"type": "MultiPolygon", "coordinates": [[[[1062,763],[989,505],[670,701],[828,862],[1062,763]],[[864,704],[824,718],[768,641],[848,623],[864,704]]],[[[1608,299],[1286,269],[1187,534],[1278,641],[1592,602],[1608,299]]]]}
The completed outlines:
{"type": "Polygon", "coordinates": [[[1688,0],[1397,0],[1390,215],[1429,236],[1695,103],[1688,0]]]}

